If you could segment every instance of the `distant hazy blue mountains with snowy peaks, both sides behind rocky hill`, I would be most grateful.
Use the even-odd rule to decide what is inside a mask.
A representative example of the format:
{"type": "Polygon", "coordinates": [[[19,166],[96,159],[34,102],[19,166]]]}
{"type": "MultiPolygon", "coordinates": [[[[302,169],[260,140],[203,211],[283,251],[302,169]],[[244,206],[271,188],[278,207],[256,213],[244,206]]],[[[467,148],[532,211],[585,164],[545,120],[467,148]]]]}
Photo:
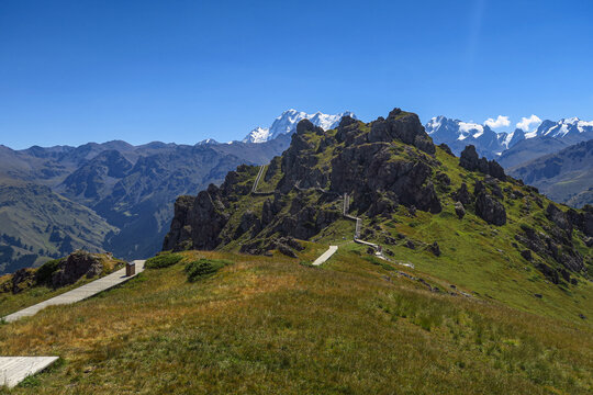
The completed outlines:
{"type": "MultiPolygon", "coordinates": [[[[337,127],[344,115],[356,119],[349,111],[329,115],[288,110],[270,127],[258,127],[243,142],[232,143],[205,139],[194,146],[159,142],[132,146],[114,140],[23,150],[0,146],[0,273],[40,264],[77,248],[112,251],[124,259],[152,256],[161,245],[177,196],[220,184],[239,165],[268,162],[288,148],[290,135],[303,119],[326,131],[337,127]]],[[[506,134],[438,116],[425,128],[436,144],[446,143],[457,155],[474,145],[480,155],[495,158],[512,174],[525,177],[558,202],[592,203],[586,171],[569,189],[553,187],[575,174],[575,165],[567,165],[566,155],[551,179],[538,170],[549,169],[551,159],[546,159],[546,166],[527,163],[593,138],[592,122],[544,121],[535,131],[506,134]],[[514,171],[521,163],[521,170],[514,171]],[[533,176],[534,171],[539,176],[533,176]]],[[[571,153],[571,163],[593,167],[590,155],[574,159],[583,154],[582,148],[571,153]]]]}

